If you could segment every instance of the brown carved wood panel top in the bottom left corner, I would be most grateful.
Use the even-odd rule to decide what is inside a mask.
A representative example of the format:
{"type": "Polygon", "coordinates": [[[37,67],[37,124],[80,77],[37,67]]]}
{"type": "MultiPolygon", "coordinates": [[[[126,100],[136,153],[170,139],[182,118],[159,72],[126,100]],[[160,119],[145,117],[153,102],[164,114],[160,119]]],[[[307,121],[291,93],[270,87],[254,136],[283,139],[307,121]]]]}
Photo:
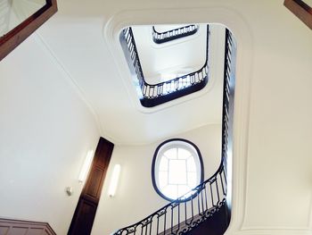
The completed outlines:
{"type": "MultiPolygon", "coordinates": [[[[42,231],[40,234],[56,235],[55,231],[53,231],[47,222],[31,222],[0,218],[0,231],[5,231],[4,234],[15,234],[15,229],[18,229],[19,232],[21,232],[21,229],[24,229],[26,233],[23,234],[25,235],[38,234],[38,231],[42,231]]],[[[3,233],[0,232],[0,234],[3,233]]]]}

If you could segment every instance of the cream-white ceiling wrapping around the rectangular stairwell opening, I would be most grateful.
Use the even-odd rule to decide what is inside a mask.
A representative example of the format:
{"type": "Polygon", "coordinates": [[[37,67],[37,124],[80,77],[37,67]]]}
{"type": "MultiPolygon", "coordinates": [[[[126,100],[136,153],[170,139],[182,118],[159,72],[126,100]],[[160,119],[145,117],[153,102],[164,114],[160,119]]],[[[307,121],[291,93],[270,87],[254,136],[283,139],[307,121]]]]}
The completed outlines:
{"type": "Polygon", "coordinates": [[[220,110],[209,100],[221,86],[216,77],[213,88],[177,105],[141,109],[118,49],[119,29],[192,22],[233,29],[238,60],[231,234],[312,234],[312,31],[282,0],[58,2],[59,12],[38,34],[93,107],[103,136],[116,143],[151,142],[218,122],[220,110]]]}

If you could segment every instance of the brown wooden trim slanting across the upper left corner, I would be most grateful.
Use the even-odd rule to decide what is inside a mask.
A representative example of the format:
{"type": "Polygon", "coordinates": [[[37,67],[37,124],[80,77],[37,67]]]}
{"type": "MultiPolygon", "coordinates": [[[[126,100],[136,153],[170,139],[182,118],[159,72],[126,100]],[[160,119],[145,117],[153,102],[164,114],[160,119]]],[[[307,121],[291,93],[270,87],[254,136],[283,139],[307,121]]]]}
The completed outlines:
{"type": "Polygon", "coordinates": [[[0,61],[29,37],[37,28],[57,12],[56,0],[46,0],[46,4],[36,13],[0,38],[0,61]]]}

